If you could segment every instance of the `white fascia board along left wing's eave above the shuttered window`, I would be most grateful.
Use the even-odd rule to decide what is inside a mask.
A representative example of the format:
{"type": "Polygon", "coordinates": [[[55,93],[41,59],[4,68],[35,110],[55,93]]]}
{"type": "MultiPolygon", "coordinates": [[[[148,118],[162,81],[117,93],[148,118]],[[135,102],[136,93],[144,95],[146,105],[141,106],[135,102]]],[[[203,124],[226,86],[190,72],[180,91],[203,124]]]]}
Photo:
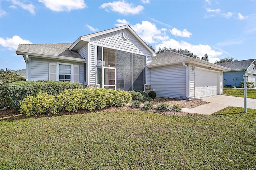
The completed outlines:
{"type": "Polygon", "coordinates": [[[57,59],[57,60],[68,60],[68,61],[76,61],[76,62],[84,62],[85,59],[82,58],[73,58],[73,57],[64,57],[64,56],[54,56],[54,55],[44,55],[44,54],[36,54],[36,53],[26,53],[26,52],[19,52],[16,51],[16,54],[18,55],[30,55],[30,57],[35,57],[35,58],[48,58],[48,59],[57,59]]]}

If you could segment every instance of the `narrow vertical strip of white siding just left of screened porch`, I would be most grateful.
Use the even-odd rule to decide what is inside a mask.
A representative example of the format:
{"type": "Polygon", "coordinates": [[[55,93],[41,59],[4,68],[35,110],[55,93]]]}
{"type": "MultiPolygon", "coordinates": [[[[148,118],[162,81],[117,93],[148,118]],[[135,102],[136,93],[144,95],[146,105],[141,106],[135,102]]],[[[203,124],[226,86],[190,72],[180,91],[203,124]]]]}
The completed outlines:
{"type": "Polygon", "coordinates": [[[95,61],[95,45],[89,44],[89,77],[90,85],[96,85],[96,61],[95,61]]]}

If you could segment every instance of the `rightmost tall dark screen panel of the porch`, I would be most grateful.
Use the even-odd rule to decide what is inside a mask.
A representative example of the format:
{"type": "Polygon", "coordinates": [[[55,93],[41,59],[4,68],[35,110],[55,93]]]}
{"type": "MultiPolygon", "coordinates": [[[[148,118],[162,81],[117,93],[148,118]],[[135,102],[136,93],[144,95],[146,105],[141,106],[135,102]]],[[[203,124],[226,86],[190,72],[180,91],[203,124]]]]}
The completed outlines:
{"type": "Polygon", "coordinates": [[[146,56],[133,54],[132,57],[132,88],[144,91],[146,83],[146,56]]]}

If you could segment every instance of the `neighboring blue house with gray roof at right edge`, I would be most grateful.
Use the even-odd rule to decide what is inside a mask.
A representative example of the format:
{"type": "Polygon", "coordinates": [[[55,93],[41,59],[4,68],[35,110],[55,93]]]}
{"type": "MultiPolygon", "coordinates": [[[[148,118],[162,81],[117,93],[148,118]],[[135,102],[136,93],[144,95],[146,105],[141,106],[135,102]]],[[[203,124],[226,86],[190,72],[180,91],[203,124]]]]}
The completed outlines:
{"type": "Polygon", "coordinates": [[[246,72],[248,81],[252,81],[256,85],[256,59],[218,63],[218,65],[230,68],[223,73],[223,87],[225,85],[238,87],[240,82],[244,81],[242,76],[246,72]]]}

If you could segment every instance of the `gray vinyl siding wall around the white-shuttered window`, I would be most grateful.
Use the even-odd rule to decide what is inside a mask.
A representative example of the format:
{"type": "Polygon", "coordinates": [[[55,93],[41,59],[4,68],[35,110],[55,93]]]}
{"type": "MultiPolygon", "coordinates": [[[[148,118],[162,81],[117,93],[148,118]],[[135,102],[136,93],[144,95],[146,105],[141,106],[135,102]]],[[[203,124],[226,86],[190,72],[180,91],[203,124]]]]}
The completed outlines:
{"type": "Polygon", "coordinates": [[[49,63],[67,63],[79,65],[79,81],[84,85],[84,64],[71,61],[60,61],[40,58],[30,58],[31,69],[29,71],[30,80],[49,80],[49,63]]]}

